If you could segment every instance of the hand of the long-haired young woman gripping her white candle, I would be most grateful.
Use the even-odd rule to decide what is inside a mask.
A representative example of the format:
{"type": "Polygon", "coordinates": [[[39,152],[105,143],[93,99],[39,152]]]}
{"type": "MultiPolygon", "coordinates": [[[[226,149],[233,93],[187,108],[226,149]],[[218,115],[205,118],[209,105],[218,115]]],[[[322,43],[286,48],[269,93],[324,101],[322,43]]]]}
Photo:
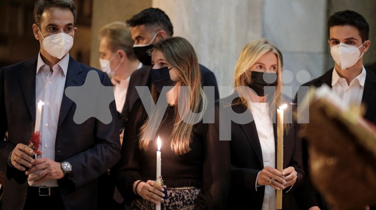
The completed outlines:
{"type": "MultiPolygon", "coordinates": [[[[137,183],[137,181],[135,182],[137,183]]],[[[165,194],[163,193],[163,187],[155,186],[155,181],[148,180],[148,182],[142,182],[137,187],[137,194],[140,195],[143,199],[158,204],[161,201],[164,201],[165,194]]]]}

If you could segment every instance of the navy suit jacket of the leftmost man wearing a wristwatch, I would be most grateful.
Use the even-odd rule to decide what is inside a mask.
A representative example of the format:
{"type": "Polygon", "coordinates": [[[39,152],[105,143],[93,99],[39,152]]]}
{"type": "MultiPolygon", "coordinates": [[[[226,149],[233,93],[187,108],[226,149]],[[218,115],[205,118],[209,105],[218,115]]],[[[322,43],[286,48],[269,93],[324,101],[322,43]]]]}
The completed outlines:
{"type": "MultiPolygon", "coordinates": [[[[0,170],[6,174],[3,210],[22,210],[27,182],[25,172],[8,165],[8,156],[16,144],[27,144],[35,126],[35,75],[37,57],[0,70],[0,170]],[[4,141],[8,131],[8,141],[4,141]]],[[[94,68],[69,59],[65,88],[81,86],[94,68]]],[[[100,70],[103,85],[111,86],[100,70]]],[[[120,160],[118,121],[115,101],[110,103],[112,122],[103,124],[91,117],[74,122],[76,105],[65,94],[61,102],[55,141],[55,161],[72,164],[74,183],[58,180],[65,208],[98,209],[97,178],[120,160]]],[[[43,205],[43,204],[38,204],[43,205]]]]}

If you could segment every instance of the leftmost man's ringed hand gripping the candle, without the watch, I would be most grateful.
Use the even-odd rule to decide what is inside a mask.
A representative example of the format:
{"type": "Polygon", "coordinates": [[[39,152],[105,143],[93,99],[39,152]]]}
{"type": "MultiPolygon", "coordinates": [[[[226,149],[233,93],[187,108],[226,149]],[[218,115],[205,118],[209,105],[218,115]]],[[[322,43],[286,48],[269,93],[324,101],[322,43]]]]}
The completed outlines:
{"type": "MultiPolygon", "coordinates": [[[[26,167],[31,167],[34,163],[34,159],[30,157],[33,154],[33,150],[25,144],[19,143],[13,149],[12,154],[10,155],[10,163],[20,171],[25,171],[26,167]]],[[[41,155],[42,151],[38,151],[37,155],[41,155]]]]}

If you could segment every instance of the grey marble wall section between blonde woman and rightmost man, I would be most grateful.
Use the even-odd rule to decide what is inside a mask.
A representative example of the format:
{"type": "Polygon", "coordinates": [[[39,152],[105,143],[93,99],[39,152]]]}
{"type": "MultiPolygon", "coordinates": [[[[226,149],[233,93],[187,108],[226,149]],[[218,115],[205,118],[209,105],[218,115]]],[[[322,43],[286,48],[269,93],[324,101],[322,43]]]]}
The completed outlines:
{"type": "Polygon", "coordinates": [[[326,71],[326,5],[327,0],[264,0],[262,34],[282,52],[289,97],[326,71]]]}

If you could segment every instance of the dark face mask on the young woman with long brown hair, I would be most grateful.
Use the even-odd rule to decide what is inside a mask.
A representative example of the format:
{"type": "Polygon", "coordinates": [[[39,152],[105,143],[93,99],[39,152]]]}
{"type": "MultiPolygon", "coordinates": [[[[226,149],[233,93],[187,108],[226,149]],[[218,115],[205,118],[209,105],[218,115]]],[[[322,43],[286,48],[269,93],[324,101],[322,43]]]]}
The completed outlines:
{"type": "Polygon", "coordinates": [[[162,67],[160,69],[151,69],[150,78],[151,82],[154,84],[155,89],[158,93],[162,92],[164,86],[175,86],[176,82],[171,80],[169,71],[172,68],[162,67]]]}

